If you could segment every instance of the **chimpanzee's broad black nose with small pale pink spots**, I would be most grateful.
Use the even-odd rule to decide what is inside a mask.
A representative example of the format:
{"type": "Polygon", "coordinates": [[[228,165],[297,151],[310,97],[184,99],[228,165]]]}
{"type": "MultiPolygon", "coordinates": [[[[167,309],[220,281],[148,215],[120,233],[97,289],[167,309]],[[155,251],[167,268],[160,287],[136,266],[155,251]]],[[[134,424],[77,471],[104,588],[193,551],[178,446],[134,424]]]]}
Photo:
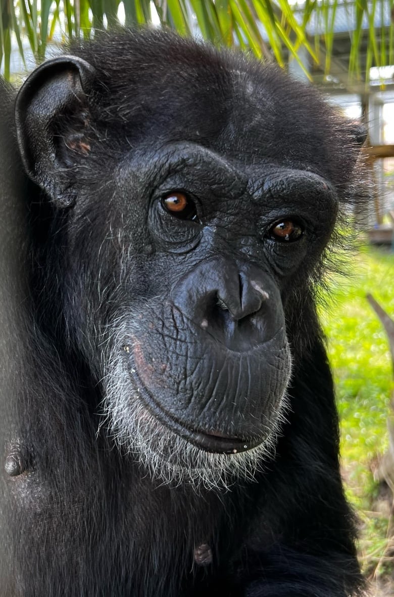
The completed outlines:
{"type": "Polygon", "coordinates": [[[278,288],[254,264],[204,261],[178,281],[171,298],[193,324],[231,350],[250,350],[283,327],[278,288]]]}

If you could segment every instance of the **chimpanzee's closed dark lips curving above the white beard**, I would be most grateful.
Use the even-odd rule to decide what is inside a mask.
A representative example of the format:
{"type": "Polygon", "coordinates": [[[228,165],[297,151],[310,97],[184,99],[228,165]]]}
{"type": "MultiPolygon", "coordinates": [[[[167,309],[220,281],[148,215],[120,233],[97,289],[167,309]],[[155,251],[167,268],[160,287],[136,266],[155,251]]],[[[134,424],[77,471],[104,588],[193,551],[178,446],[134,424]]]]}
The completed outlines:
{"type": "Polygon", "coordinates": [[[151,392],[144,386],[138,376],[135,368],[129,365],[129,374],[132,383],[138,389],[138,396],[141,399],[144,407],[157,418],[159,423],[170,429],[176,435],[195,445],[200,450],[218,454],[237,454],[256,448],[261,444],[265,438],[248,438],[242,439],[236,436],[227,436],[221,432],[212,432],[201,429],[192,429],[187,424],[177,420],[171,414],[167,413],[163,408],[157,404],[157,401],[151,395],[151,392]]]}

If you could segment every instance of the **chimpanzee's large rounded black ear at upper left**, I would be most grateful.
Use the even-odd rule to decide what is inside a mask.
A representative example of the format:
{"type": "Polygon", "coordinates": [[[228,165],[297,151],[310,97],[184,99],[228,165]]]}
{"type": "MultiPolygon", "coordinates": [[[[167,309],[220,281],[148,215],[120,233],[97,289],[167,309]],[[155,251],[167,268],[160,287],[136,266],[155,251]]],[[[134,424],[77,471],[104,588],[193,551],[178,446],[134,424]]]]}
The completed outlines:
{"type": "Polygon", "coordinates": [[[59,207],[75,202],[72,167],[89,154],[88,96],[94,67],[76,56],[48,60],[27,78],[15,101],[24,168],[59,207]]]}

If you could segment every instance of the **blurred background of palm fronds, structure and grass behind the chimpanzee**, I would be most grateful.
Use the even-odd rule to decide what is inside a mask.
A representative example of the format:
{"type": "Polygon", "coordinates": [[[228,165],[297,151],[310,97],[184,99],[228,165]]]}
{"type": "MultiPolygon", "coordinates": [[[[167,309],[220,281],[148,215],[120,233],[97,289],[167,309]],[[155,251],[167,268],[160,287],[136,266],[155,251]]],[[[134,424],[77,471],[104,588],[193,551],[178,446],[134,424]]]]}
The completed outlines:
{"type": "MultiPolygon", "coordinates": [[[[321,306],[341,417],[342,471],[376,596],[394,595],[394,0],[0,0],[1,73],[16,84],[69,38],[171,27],[278,63],[364,123],[375,183],[346,275],[321,306]]],[[[355,214],[359,216],[359,214],[355,214]]],[[[347,231],[346,231],[347,232],[347,231]]],[[[340,256],[341,257],[341,256],[340,256]]],[[[346,267],[347,266],[347,267],[346,267]]]]}

